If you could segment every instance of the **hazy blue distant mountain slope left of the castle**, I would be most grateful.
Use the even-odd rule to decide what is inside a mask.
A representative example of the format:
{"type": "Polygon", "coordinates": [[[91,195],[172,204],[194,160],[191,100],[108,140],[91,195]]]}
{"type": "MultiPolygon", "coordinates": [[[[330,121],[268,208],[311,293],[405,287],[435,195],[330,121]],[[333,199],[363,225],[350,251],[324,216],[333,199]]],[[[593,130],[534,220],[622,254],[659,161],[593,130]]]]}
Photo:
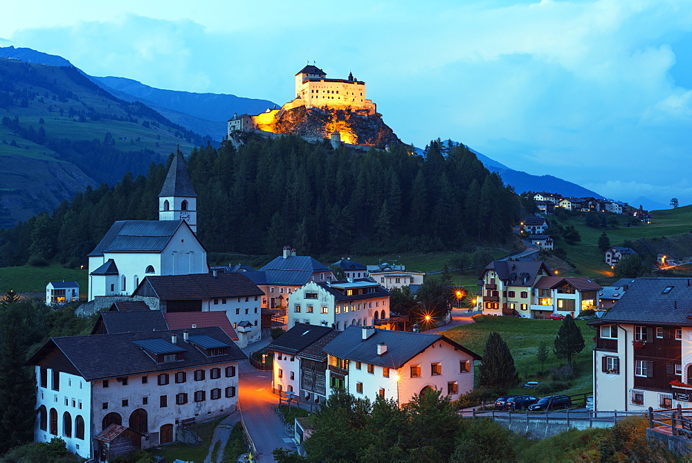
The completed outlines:
{"type": "MultiPolygon", "coordinates": [[[[126,78],[95,77],[94,79],[111,89],[134,96],[145,104],[153,103],[150,106],[165,114],[171,120],[181,124],[184,121],[192,125],[199,122],[210,122],[212,124],[216,122],[212,127],[220,127],[220,129],[212,129],[214,133],[199,133],[209,133],[217,140],[221,140],[226,134],[226,121],[233,117],[234,113],[260,114],[266,111],[267,108],[276,106],[275,103],[269,100],[244,98],[225,93],[192,93],[188,91],[156,89],[136,80],[126,78]],[[178,115],[170,114],[164,108],[176,111],[178,115]],[[185,114],[189,114],[192,118],[189,116],[185,118],[185,114]]],[[[192,127],[190,125],[186,126],[192,127]]]]}

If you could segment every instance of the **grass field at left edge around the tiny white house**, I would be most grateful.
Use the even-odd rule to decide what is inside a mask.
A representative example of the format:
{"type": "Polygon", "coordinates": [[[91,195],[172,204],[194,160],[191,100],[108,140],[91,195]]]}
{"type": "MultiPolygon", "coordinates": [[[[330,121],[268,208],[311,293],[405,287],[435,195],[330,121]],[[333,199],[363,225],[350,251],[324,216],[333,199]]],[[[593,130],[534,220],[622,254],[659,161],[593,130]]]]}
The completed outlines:
{"type": "Polygon", "coordinates": [[[0,293],[10,289],[17,293],[46,291],[46,284],[50,281],[76,281],[80,284],[80,293],[86,297],[89,289],[89,271],[85,268],[66,269],[63,266],[51,265],[47,267],[0,267],[0,293]]]}

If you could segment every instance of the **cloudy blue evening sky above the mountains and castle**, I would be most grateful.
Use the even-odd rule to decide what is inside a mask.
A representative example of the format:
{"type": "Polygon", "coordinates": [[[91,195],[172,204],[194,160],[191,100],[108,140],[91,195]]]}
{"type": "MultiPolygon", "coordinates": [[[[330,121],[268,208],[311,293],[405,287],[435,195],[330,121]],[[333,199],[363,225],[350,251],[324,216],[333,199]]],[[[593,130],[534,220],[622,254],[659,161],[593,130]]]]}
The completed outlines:
{"type": "Polygon", "coordinates": [[[3,6],[0,46],[91,75],[283,103],[353,71],[407,143],[451,138],[605,197],[692,203],[692,2],[77,1],[3,6]]]}

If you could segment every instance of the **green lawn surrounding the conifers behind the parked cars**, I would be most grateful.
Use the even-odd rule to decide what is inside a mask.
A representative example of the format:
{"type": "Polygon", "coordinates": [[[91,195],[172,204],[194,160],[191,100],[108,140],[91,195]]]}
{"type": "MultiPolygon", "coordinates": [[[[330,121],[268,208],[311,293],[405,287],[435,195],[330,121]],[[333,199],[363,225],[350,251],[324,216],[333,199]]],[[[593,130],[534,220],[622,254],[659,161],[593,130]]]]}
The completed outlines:
{"type": "MultiPolygon", "coordinates": [[[[525,381],[539,381],[539,383],[549,381],[547,374],[540,373],[541,366],[536,360],[536,350],[541,342],[545,343],[550,351],[544,370],[549,371],[553,367],[567,363],[565,359],[556,358],[552,353],[561,321],[495,316],[475,316],[474,320],[475,323],[448,329],[444,335],[482,356],[488,336],[491,332],[498,332],[509,346],[522,384],[525,381]]],[[[572,358],[572,365],[579,376],[572,380],[570,388],[555,393],[581,394],[592,390],[592,336],[594,336],[594,331],[583,320],[576,320],[576,324],[581,329],[585,339],[583,351],[572,358]]],[[[522,389],[519,385],[518,388],[510,390],[510,392],[526,394],[527,390],[522,389]]]]}

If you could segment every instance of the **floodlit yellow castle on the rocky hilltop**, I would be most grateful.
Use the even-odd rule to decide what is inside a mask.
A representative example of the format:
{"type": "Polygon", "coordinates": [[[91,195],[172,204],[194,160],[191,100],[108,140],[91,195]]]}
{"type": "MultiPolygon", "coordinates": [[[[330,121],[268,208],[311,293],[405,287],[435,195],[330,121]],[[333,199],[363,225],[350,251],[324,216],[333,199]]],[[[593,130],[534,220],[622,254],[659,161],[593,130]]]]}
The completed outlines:
{"type": "MultiPolygon", "coordinates": [[[[267,109],[255,116],[234,114],[233,118],[228,120],[228,138],[232,138],[235,131],[276,133],[275,122],[278,113],[298,107],[348,109],[361,116],[372,116],[376,114],[377,109],[375,103],[365,96],[365,82],[354,78],[352,73],[349,73],[347,79],[327,79],[325,71],[308,64],[295,74],[293,100],[281,108],[267,109]]],[[[348,130],[340,127],[341,125],[343,124],[333,122],[330,127],[325,127],[326,135],[331,137],[334,143],[340,143],[341,140],[354,143],[355,137],[347,133],[348,130]]]]}

